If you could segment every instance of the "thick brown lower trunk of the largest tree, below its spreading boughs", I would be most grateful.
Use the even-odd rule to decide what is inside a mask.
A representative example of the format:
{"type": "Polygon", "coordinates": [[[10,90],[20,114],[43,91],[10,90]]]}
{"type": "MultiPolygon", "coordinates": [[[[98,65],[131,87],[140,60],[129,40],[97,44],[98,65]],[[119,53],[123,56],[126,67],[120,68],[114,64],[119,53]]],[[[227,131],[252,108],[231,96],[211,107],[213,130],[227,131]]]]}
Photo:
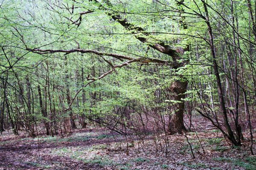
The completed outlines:
{"type": "Polygon", "coordinates": [[[175,133],[182,133],[185,129],[183,123],[183,112],[185,103],[182,99],[185,98],[185,92],[187,89],[188,82],[186,81],[175,81],[170,86],[172,98],[177,101],[173,105],[173,112],[169,116],[168,132],[172,135],[175,133]]]}

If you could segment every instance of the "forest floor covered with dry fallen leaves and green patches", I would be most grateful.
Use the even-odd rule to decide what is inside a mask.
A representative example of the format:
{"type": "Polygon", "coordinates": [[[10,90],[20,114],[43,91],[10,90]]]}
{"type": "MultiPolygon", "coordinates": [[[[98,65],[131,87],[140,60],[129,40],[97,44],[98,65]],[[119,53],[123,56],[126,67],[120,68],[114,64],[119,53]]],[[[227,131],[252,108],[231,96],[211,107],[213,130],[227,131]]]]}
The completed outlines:
{"type": "Polygon", "coordinates": [[[197,133],[186,134],[195,158],[184,134],[168,136],[166,152],[164,134],[151,133],[137,140],[135,135],[126,138],[103,127],[88,127],[62,138],[33,139],[25,133],[14,136],[6,131],[0,136],[0,170],[256,169],[256,157],[250,155],[248,147],[248,132],[244,133],[246,140],[241,147],[231,147],[218,130],[203,127],[197,125],[197,133]]]}

